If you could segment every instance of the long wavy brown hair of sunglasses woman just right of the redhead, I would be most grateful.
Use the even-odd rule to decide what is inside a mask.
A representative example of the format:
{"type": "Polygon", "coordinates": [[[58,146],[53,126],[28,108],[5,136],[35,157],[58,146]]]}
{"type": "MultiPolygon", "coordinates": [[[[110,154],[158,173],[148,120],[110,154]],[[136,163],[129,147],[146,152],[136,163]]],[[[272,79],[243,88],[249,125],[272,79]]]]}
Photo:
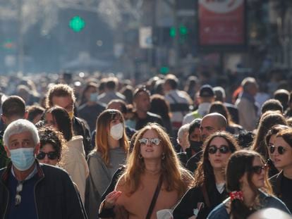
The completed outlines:
{"type": "MultiPolygon", "coordinates": [[[[202,146],[203,148],[202,158],[198,163],[197,170],[195,170],[195,180],[193,182],[194,187],[202,187],[204,184],[206,185],[207,188],[216,186],[214,169],[209,161],[208,152],[210,144],[215,137],[221,137],[226,140],[229,146],[229,150],[231,151],[231,154],[240,149],[238,143],[236,142],[236,139],[229,132],[224,131],[215,132],[211,134],[209,137],[207,137],[202,146]]],[[[222,172],[224,173],[224,169],[222,169],[222,172]]]]}

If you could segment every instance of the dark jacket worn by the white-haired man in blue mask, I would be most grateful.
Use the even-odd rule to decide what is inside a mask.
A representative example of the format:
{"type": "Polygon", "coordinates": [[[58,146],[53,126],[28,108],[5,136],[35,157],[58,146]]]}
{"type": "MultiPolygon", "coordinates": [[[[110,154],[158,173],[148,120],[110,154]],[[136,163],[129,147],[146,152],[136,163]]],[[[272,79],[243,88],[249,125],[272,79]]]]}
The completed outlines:
{"type": "MultiPolygon", "coordinates": [[[[39,219],[87,218],[80,196],[68,173],[61,168],[39,164],[37,161],[35,204],[39,219]]],[[[5,219],[9,208],[8,178],[11,163],[0,170],[0,218],[5,219]]]]}

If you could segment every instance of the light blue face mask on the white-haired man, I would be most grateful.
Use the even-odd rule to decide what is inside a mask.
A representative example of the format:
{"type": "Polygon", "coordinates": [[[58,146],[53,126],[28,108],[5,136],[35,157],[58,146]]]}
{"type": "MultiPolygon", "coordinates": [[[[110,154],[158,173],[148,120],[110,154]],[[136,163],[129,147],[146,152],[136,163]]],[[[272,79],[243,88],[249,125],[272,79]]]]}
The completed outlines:
{"type": "Polygon", "coordinates": [[[14,149],[10,151],[11,162],[20,171],[28,170],[35,162],[34,148],[14,149]]]}

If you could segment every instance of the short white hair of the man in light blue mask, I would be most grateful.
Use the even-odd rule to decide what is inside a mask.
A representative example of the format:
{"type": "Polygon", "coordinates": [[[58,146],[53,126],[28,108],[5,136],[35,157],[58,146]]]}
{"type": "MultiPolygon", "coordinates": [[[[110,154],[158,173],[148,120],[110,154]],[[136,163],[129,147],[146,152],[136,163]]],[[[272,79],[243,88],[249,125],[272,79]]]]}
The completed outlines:
{"type": "Polygon", "coordinates": [[[19,119],[10,123],[4,132],[3,142],[5,146],[8,146],[8,141],[11,135],[20,134],[22,132],[30,132],[32,134],[32,139],[35,142],[35,146],[39,143],[39,134],[37,132],[37,127],[29,120],[19,119]]]}

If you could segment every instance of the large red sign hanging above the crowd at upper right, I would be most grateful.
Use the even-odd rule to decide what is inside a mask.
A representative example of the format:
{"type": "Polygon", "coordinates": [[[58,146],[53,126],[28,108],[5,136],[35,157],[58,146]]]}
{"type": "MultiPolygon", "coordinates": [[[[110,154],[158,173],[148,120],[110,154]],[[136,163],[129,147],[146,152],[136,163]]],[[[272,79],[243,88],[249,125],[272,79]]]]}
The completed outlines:
{"type": "Polygon", "coordinates": [[[201,46],[245,44],[244,0],[199,0],[201,46]]]}

